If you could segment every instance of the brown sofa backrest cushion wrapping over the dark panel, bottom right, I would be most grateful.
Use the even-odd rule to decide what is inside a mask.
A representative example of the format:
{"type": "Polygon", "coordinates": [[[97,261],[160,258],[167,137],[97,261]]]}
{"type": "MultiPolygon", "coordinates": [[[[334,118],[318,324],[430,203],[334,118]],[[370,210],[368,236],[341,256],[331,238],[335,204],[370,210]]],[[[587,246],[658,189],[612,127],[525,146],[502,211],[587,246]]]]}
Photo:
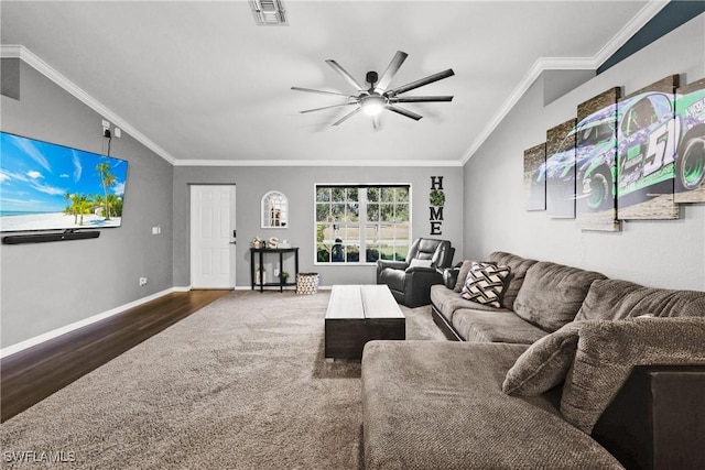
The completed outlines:
{"type": "Polygon", "coordinates": [[[705,318],[587,321],[567,373],[561,413],[590,433],[634,365],[705,364],[705,318]]]}

